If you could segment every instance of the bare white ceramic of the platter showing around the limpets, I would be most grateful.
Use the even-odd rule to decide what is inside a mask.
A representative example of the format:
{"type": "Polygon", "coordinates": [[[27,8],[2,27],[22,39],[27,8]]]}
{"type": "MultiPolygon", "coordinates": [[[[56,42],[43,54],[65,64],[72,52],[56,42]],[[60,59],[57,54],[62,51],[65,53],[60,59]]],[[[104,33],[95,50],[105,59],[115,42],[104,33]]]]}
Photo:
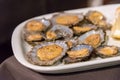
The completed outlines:
{"type": "MultiPolygon", "coordinates": [[[[88,10],[98,10],[102,12],[108,19],[109,22],[112,22],[114,20],[114,13],[116,8],[120,6],[120,4],[113,4],[113,5],[105,5],[100,7],[92,7],[92,8],[84,8],[84,9],[76,9],[76,10],[69,10],[66,12],[70,13],[86,13],[88,10]]],[[[38,18],[50,18],[53,14],[38,16],[32,19],[38,19],[38,18]]],[[[29,20],[27,20],[29,21],[29,20]]],[[[41,73],[68,73],[68,72],[75,72],[75,71],[83,71],[83,70],[89,70],[89,69],[95,69],[105,66],[111,66],[120,64],[120,56],[111,57],[111,58],[97,58],[96,60],[90,60],[86,62],[78,62],[73,64],[60,64],[57,66],[37,66],[29,63],[25,58],[24,54],[30,50],[30,46],[25,43],[25,41],[22,39],[22,29],[27,22],[23,22],[19,24],[12,35],[12,49],[15,58],[24,66],[27,68],[30,68],[32,70],[41,72],[41,73]]],[[[120,41],[115,41],[114,39],[110,38],[108,41],[109,45],[117,45],[120,47],[120,41]]]]}

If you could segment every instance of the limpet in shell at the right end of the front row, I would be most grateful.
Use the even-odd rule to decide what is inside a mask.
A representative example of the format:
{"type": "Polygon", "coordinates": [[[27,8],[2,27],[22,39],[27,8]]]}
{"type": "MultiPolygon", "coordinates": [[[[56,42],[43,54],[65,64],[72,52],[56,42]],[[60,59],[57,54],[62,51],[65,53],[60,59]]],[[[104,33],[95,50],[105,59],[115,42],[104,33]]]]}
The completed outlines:
{"type": "Polygon", "coordinates": [[[104,45],[96,49],[96,54],[102,58],[116,56],[120,53],[116,46],[104,45]]]}

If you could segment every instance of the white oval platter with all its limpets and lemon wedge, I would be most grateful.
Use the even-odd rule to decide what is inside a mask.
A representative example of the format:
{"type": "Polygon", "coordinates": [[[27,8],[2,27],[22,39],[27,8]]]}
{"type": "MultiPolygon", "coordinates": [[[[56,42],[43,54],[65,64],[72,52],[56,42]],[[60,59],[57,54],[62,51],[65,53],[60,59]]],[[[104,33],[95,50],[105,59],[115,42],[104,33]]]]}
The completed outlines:
{"type": "Polygon", "coordinates": [[[20,23],[13,54],[40,73],[69,73],[120,64],[120,4],[55,12],[20,23]]]}

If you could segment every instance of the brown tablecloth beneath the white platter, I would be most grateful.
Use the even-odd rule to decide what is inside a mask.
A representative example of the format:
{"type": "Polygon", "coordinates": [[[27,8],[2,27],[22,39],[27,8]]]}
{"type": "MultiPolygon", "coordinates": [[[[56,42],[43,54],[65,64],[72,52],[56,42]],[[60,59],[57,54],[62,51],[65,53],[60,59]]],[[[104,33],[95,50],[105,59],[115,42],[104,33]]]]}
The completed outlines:
{"type": "Polygon", "coordinates": [[[120,65],[67,74],[43,74],[24,67],[12,56],[0,64],[0,80],[120,80],[120,65]]]}

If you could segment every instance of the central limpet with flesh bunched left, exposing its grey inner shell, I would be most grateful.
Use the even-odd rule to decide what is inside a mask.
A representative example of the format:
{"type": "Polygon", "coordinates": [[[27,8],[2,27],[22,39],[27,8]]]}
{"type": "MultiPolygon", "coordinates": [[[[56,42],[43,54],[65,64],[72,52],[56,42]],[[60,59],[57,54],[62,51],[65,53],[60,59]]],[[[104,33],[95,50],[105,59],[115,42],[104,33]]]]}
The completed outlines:
{"type": "Polygon", "coordinates": [[[56,40],[59,38],[70,39],[73,37],[73,31],[63,25],[54,25],[46,32],[46,40],[56,40]]]}

